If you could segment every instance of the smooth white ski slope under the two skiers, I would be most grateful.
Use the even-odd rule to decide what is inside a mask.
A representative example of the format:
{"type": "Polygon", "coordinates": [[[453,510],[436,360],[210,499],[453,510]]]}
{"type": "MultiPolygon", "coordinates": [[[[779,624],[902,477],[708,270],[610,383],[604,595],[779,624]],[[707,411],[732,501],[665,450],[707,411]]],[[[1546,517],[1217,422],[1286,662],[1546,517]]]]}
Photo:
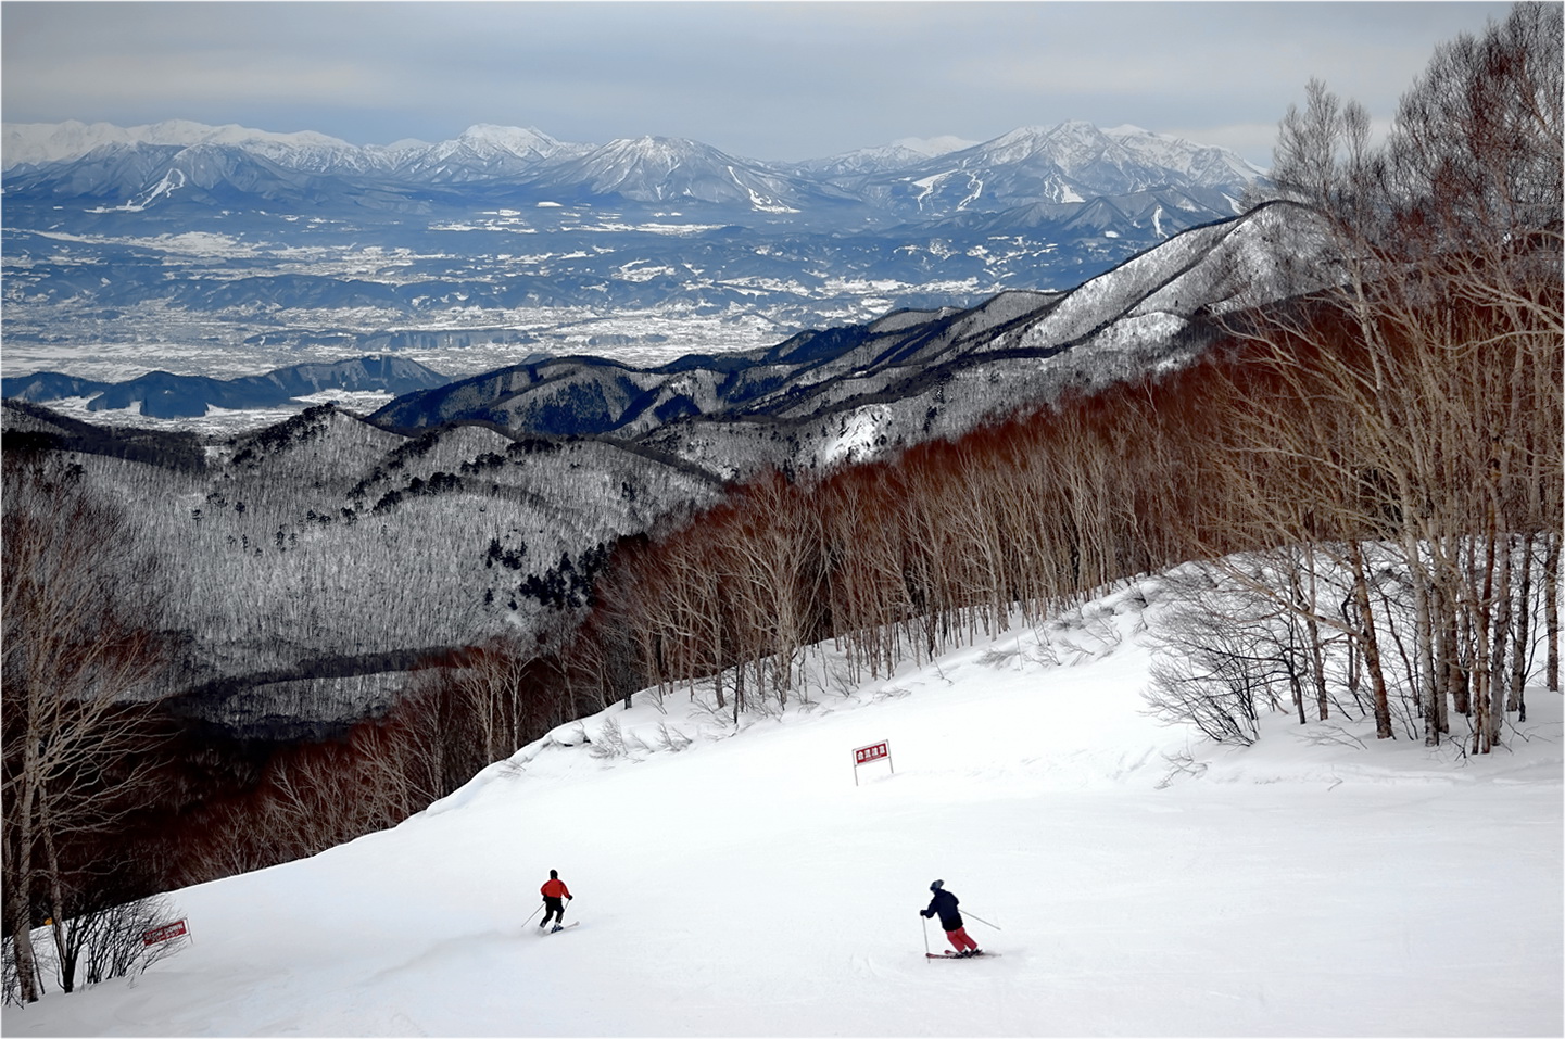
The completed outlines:
{"type": "Polygon", "coordinates": [[[1562,1026],[1560,696],[1507,750],[1142,714],[1158,591],[734,726],[639,693],[396,829],[172,897],[8,1036],[1435,1036],[1562,1026]],[[851,751],[889,742],[854,770],[851,751]],[[557,868],[579,926],[537,933],[557,868]],[[994,959],[928,962],[933,879],[994,959]]]}

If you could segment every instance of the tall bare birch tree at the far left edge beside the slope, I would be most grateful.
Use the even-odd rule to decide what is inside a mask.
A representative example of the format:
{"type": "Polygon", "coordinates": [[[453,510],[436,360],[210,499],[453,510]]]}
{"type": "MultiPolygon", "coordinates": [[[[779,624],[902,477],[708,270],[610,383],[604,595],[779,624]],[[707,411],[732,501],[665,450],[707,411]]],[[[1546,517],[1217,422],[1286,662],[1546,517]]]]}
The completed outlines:
{"type": "Polygon", "coordinates": [[[31,929],[91,883],[78,845],[122,825],[155,781],[147,698],[167,667],[153,560],[124,515],[47,457],[5,462],[5,929],[38,998],[31,929]]]}

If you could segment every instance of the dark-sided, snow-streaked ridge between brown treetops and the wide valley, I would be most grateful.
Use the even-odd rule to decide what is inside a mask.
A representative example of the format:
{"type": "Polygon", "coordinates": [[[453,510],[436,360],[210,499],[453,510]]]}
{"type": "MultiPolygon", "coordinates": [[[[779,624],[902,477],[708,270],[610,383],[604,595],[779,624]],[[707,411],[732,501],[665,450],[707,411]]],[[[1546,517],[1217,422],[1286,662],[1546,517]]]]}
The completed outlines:
{"type": "Polygon", "coordinates": [[[757,463],[829,465],[845,457],[850,427],[873,429],[851,451],[865,460],[959,437],[1064,385],[1185,363],[1214,333],[1213,316],[1318,286],[1322,249],[1307,211],[1275,203],[1185,232],[1070,293],[898,311],[656,369],[540,358],[408,393],[374,421],[399,429],[485,421],[518,435],[645,440],[728,474],[757,463]],[[706,454],[714,438],[736,454],[706,454]]]}

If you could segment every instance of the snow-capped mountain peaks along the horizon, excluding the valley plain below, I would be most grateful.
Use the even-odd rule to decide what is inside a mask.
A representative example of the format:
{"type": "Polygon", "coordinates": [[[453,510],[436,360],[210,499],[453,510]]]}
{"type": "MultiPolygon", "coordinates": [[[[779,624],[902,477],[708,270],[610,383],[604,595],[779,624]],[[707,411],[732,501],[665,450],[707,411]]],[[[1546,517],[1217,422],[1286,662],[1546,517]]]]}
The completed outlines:
{"type": "Polygon", "coordinates": [[[966,147],[948,139],[934,153],[887,146],[806,163],[736,158],[675,138],[568,144],[491,125],[455,141],[391,146],[191,122],[6,124],[3,139],[8,199],[94,200],[124,211],[243,199],[308,208],[332,196],[416,210],[460,203],[473,186],[490,185],[534,203],[690,202],[773,214],[859,205],[941,218],[1163,188],[1238,194],[1263,177],[1225,149],[1086,122],[1024,127],[966,147]]]}

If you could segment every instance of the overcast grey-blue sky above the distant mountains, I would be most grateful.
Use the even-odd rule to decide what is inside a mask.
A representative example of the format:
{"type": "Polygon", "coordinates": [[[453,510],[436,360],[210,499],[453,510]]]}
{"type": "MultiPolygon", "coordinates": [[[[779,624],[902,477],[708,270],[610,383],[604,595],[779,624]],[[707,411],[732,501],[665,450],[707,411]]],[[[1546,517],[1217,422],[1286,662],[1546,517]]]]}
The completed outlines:
{"type": "Polygon", "coordinates": [[[803,160],[1136,124],[1271,164],[1310,77],[1388,120],[1504,3],[0,3],[6,122],[443,141],[479,122],[803,160]]]}

